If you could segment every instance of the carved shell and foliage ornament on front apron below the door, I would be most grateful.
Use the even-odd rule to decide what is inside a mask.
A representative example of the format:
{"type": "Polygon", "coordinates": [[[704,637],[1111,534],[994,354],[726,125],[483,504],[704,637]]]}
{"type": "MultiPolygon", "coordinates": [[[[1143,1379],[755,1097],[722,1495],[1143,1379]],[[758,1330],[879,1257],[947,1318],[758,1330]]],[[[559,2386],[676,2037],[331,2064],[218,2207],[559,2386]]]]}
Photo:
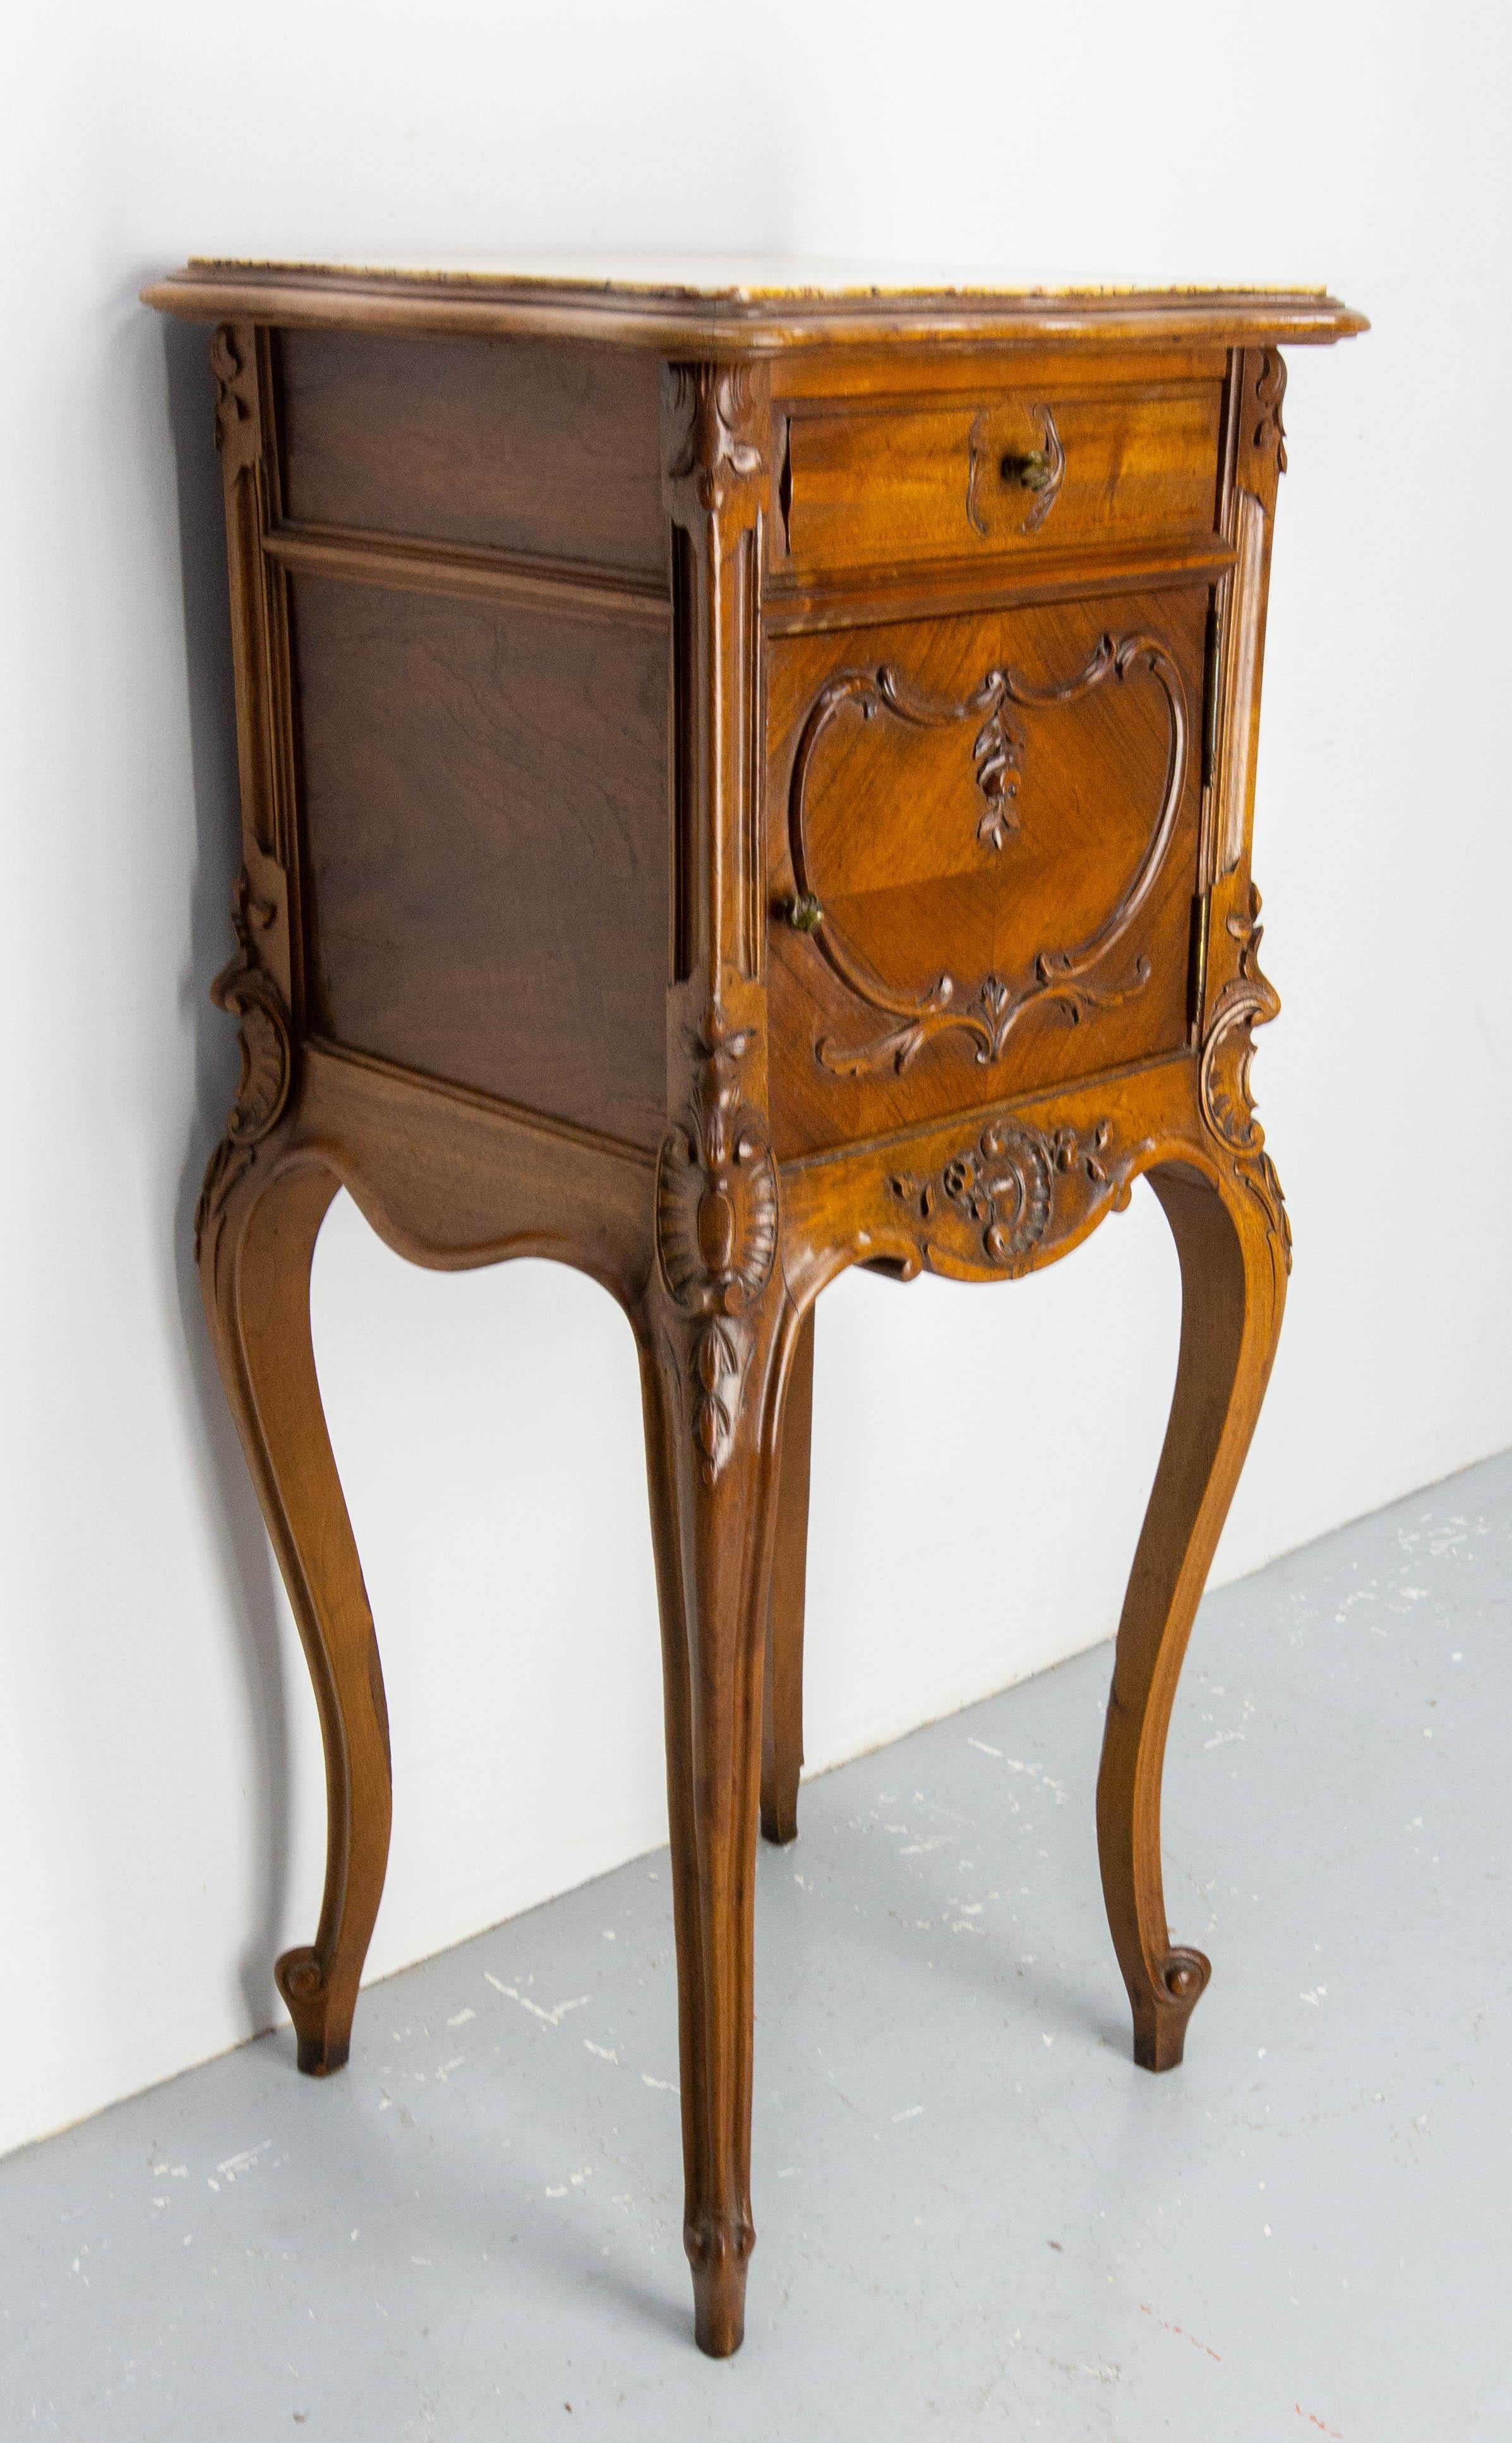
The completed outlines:
{"type": "Polygon", "coordinates": [[[906,1209],[931,1268],[1014,1275],[1028,1270],[1036,1248],[1065,1236],[1099,1204],[1111,1200],[1121,1212],[1129,1160],[1116,1156],[1107,1119],[1089,1136],[992,1119],[938,1173],[901,1173],[887,1190],[906,1209]]]}

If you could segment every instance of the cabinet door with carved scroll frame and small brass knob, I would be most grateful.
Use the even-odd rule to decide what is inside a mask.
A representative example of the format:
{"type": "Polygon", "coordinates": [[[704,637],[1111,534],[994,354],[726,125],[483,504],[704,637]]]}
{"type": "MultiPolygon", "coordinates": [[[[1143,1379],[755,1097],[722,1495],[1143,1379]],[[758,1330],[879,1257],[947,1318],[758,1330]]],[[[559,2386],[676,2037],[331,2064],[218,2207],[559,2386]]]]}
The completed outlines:
{"type": "Polygon", "coordinates": [[[1207,606],[772,640],[782,1156],[1185,1046],[1207,606]]]}

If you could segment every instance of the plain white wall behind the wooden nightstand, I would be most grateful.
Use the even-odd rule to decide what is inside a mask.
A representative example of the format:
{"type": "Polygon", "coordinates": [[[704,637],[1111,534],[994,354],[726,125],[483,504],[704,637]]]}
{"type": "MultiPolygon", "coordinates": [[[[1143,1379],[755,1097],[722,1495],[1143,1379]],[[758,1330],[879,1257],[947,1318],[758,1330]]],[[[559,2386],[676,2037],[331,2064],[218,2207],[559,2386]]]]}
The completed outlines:
{"type": "MultiPolygon", "coordinates": [[[[1427,34],[1380,0],[12,22],[0,2143],[269,2025],[320,1884],[308,1683],[188,1270],[234,1072],[220,508],[203,340],[139,281],[738,247],[1314,276],[1373,315],[1287,401],[1258,1085],[1299,1261],[1238,1573],[1512,1441],[1510,68],[1500,0],[1427,34]]],[[[393,1708],[381,1974],[662,1837],[635,1366],[584,1280],[405,1270],[344,1200],[315,1312],[393,1708]]],[[[1143,1190],[992,1302],[826,1300],[811,1761],[1107,1634],[1175,1319],[1143,1190]]]]}

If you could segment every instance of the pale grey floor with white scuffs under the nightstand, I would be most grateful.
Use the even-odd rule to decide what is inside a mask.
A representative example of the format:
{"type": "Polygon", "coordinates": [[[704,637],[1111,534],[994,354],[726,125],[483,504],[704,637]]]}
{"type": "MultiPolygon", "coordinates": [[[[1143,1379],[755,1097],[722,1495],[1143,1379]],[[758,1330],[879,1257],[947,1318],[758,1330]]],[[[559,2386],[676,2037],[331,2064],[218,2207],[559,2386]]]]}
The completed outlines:
{"type": "MultiPolygon", "coordinates": [[[[1512,1456],[1204,1605],[1185,2069],[1131,2067],[1109,1651],[813,1781],[757,1896],[747,2340],[691,2343],[667,1859],[0,2164],[0,2433],[1512,2436],[1512,1456]]],[[[44,2006],[32,1996],[32,2006],[44,2006]]]]}

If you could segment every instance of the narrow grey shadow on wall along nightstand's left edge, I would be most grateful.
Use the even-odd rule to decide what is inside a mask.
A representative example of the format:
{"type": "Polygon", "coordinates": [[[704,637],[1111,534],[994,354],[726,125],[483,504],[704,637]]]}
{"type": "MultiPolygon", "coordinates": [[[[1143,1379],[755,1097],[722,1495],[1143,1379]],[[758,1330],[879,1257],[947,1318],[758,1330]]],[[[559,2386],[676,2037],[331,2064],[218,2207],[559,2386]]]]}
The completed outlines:
{"type": "Polygon", "coordinates": [[[210,985],[232,955],[230,897],[242,862],[237,706],[210,335],[198,325],[169,320],[161,322],[161,335],[178,474],[183,652],[195,799],[191,958],[183,987],[195,1031],[195,1099],[173,1207],[173,1285],[195,1393],[193,1429],[198,1429],[205,1456],[210,1522],[225,1561],[227,1612],[237,1625],[252,1747],[259,1759],[254,1771],[259,1881],[252,1903],[252,1935],[239,1959],[242,1996],[249,2033],[254,2033],[281,2018],[274,1957],[283,1935],[291,1859],[288,1688],[274,1556],[220,1388],[193,1263],[193,1214],[200,1180],[237,1090],[237,1036],[232,1021],[210,1004],[210,985]]]}

